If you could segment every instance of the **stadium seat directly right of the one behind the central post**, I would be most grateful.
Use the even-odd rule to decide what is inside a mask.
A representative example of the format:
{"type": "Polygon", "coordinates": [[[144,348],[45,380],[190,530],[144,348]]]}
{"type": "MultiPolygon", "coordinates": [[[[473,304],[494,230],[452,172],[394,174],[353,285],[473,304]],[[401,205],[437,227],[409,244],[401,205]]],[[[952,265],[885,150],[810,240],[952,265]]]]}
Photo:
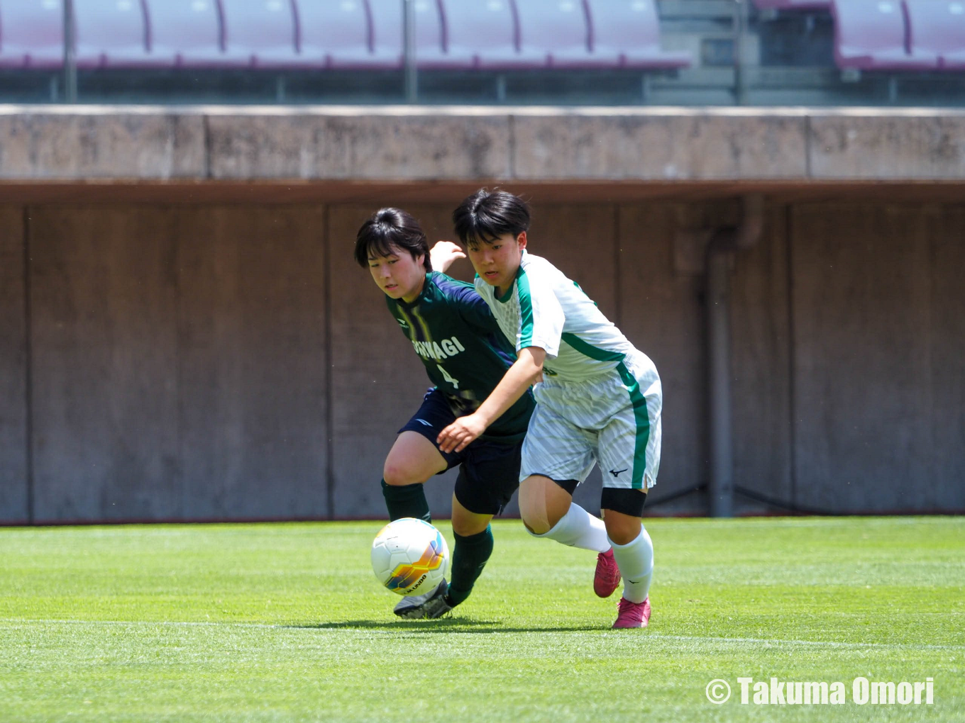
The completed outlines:
{"type": "MultiPolygon", "coordinates": [[[[442,0],[441,67],[502,68],[519,61],[511,0],[442,0]]],[[[432,67],[431,60],[420,65],[432,67]]]]}

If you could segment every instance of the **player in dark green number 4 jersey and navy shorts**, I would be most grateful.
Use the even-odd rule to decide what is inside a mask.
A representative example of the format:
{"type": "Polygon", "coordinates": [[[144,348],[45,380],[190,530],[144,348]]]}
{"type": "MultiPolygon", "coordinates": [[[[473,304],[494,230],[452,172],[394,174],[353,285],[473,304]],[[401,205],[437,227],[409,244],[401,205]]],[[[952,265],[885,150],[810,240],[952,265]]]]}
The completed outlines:
{"type": "MultiPolygon", "coordinates": [[[[433,249],[445,269],[465,257],[455,244],[433,249]]],[[[389,311],[411,341],[434,385],[422,406],[399,430],[385,460],[382,492],[391,520],[429,522],[423,484],[459,466],[453,495],[452,580],[396,605],[403,618],[437,618],[462,603],[492,552],[489,521],[519,486],[519,457],[533,412],[523,392],[493,418],[480,439],[459,451],[443,452],[435,439],[458,416],[471,414],[515,361],[512,345],[472,284],[433,271],[426,234],[397,208],[372,215],[355,240],[355,260],[368,268],[385,294],[389,311]]]]}

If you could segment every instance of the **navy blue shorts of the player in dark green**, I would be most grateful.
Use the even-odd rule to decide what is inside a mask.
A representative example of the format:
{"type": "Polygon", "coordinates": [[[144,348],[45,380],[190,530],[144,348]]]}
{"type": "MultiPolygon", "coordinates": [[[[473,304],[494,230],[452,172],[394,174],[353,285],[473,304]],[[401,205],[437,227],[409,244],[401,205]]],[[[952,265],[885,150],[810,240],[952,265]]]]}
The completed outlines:
{"type": "MultiPolygon", "coordinates": [[[[418,432],[429,442],[455,421],[446,395],[431,388],[422,406],[399,432],[418,432]]],[[[519,464],[523,442],[491,442],[476,440],[461,452],[439,454],[446,460],[446,471],[459,465],[455,478],[455,498],[477,515],[498,515],[519,487],[519,464]]],[[[439,472],[442,474],[442,472],[439,472]]]]}

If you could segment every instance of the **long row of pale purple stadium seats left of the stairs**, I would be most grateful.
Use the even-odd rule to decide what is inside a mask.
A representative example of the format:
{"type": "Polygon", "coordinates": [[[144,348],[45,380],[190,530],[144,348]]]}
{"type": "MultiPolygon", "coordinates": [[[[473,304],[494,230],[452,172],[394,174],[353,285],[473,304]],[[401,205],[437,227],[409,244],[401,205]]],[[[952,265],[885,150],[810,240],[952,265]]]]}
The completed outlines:
{"type": "MultiPolygon", "coordinates": [[[[652,0],[415,0],[420,67],[685,67],[652,0]]],[[[72,0],[83,69],[398,69],[400,0],[72,0]]],[[[62,0],[0,0],[0,63],[61,67],[62,0]]]]}

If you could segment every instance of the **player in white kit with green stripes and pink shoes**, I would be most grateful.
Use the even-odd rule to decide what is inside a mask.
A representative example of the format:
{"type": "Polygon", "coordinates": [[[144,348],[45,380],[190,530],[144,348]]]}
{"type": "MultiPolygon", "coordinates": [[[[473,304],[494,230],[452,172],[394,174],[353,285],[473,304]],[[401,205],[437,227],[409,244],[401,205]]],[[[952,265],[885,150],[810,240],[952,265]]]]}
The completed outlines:
{"type": "Polygon", "coordinates": [[[523,522],[536,537],[565,545],[612,546],[623,577],[613,627],[645,628],[653,545],[641,517],[660,464],[656,367],[577,283],[527,251],[524,201],[483,189],[455,209],[453,221],[476,269],[477,290],[515,339],[517,361],[476,412],[439,434],[439,446],[462,449],[536,384],[519,472],[523,522]],[[602,523],[572,501],[594,462],[603,473],[602,523]]]}

